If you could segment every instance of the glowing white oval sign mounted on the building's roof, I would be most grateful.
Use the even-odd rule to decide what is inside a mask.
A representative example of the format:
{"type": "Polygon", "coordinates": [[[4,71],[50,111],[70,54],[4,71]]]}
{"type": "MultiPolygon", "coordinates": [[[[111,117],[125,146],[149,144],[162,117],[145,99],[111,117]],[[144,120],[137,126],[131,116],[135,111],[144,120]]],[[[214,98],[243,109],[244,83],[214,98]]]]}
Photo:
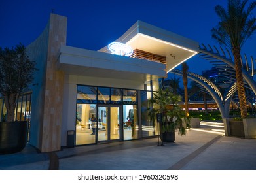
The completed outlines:
{"type": "Polygon", "coordinates": [[[119,56],[131,56],[134,52],[130,46],[121,42],[112,42],[108,47],[112,54],[119,56]]]}

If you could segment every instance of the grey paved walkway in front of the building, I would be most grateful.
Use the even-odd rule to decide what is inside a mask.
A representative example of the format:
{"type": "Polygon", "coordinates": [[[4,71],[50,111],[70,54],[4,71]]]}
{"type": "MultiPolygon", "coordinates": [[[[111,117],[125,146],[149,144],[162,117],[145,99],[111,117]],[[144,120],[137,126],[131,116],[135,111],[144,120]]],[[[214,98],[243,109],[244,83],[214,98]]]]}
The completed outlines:
{"type": "Polygon", "coordinates": [[[189,129],[174,143],[158,146],[158,138],[0,156],[0,169],[90,170],[256,170],[256,139],[224,137],[189,129]]]}

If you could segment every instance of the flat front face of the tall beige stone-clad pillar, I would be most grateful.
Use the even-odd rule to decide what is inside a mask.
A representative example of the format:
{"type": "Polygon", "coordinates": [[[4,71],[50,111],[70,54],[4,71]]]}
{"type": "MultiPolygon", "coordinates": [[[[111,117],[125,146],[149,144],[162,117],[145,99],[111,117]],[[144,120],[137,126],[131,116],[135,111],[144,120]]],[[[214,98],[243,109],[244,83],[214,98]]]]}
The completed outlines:
{"type": "Polygon", "coordinates": [[[51,14],[49,29],[42,152],[60,150],[64,73],[56,70],[56,61],[66,44],[67,18],[51,14]]]}

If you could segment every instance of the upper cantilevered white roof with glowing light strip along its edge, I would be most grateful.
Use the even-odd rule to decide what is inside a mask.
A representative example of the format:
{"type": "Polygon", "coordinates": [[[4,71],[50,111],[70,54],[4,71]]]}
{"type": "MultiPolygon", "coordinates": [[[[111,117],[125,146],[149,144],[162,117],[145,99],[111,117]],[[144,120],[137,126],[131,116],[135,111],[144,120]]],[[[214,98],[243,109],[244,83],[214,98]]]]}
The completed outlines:
{"type": "MultiPolygon", "coordinates": [[[[159,27],[137,21],[115,42],[161,56],[166,56],[166,68],[170,71],[198,53],[198,42],[166,31],[159,27]]],[[[111,53],[108,46],[98,50],[111,53]]]]}

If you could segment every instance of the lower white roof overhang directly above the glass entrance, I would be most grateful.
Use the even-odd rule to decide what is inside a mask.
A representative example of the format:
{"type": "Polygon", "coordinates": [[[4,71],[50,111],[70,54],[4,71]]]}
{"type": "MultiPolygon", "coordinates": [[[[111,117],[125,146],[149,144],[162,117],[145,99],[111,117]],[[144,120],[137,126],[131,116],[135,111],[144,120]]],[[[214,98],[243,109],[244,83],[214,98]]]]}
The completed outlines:
{"type": "Polygon", "coordinates": [[[166,75],[165,65],[162,63],[64,45],[60,47],[56,65],[69,75],[119,78],[137,82],[146,82],[166,75]]]}

